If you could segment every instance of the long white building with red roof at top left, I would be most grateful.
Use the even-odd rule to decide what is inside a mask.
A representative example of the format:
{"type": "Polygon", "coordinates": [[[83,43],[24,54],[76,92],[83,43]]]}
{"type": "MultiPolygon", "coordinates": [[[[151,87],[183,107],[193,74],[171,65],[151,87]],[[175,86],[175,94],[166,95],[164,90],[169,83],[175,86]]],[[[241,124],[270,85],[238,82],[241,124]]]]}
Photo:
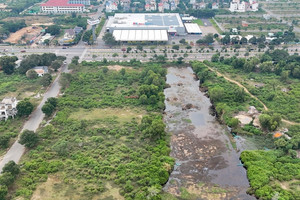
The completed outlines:
{"type": "Polygon", "coordinates": [[[82,13],[84,11],[83,4],[71,4],[69,0],[49,0],[41,4],[41,10],[45,13],[82,13]]]}

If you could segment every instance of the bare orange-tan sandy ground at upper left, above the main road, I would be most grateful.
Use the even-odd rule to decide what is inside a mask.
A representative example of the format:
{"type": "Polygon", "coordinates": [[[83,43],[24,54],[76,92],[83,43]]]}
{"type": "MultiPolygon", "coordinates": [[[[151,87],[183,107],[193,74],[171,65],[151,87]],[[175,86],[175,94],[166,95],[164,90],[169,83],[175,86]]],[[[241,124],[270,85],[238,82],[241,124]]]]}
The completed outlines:
{"type": "Polygon", "coordinates": [[[10,42],[10,43],[18,43],[18,41],[21,40],[22,36],[25,35],[25,41],[31,40],[33,37],[37,36],[41,32],[41,27],[36,27],[35,29],[32,28],[32,26],[22,28],[18,30],[15,33],[12,33],[9,38],[4,40],[4,42],[10,42]]]}

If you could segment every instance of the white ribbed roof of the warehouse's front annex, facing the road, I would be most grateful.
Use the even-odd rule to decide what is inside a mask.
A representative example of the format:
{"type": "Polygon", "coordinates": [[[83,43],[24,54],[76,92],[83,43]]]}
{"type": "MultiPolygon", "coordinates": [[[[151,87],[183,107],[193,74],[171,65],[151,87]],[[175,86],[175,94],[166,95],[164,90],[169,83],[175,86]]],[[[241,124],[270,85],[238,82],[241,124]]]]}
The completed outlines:
{"type": "Polygon", "coordinates": [[[116,41],[168,41],[167,30],[114,30],[116,41]]]}

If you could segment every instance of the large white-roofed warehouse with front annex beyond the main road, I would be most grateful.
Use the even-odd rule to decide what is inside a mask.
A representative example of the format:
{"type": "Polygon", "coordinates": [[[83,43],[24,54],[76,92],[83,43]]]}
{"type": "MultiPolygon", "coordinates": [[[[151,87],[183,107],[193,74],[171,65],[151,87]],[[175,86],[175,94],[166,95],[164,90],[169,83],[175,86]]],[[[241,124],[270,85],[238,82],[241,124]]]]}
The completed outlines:
{"type": "Polygon", "coordinates": [[[117,13],[106,29],[123,42],[168,41],[168,35],[186,33],[178,13],[117,13]]]}

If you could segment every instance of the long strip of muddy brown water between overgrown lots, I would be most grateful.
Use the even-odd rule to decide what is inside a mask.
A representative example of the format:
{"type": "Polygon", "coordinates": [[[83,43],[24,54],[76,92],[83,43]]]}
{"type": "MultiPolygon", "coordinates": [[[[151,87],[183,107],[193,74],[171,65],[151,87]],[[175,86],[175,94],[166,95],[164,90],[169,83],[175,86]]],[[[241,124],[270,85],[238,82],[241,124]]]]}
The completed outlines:
{"type": "Polygon", "coordinates": [[[191,199],[254,199],[246,194],[249,183],[239,154],[210,115],[211,103],[192,69],[168,68],[167,83],[164,120],[176,164],[164,191],[180,196],[185,190],[191,199]]]}

